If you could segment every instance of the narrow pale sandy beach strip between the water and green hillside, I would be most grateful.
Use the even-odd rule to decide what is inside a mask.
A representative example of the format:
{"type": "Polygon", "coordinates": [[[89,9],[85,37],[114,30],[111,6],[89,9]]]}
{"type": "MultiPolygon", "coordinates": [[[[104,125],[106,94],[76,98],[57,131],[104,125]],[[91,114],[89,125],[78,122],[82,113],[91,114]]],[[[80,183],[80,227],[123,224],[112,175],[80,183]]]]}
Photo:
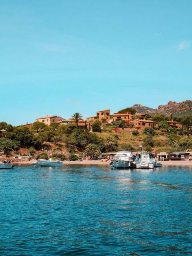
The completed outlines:
{"type": "MultiPolygon", "coordinates": [[[[14,165],[32,165],[36,160],[23,161],[23,162],[15,162],[14,165]]],[[[99,160],[83,160],[83,161],[63,161],[63,165],[101,165],[101,166],[109,166],[109,162],[100,162],[99,160]]],[[[192,161],[160,161],[162,166],[191,166],[192,161]]]]}

